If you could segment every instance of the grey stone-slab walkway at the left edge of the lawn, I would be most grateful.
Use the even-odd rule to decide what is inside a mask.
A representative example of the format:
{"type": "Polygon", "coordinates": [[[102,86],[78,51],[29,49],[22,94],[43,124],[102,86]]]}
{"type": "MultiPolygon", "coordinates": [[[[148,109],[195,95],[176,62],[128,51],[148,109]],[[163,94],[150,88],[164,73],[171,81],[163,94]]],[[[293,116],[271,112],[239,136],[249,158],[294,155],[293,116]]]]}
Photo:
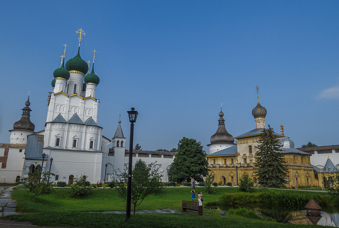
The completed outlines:
{"type": "Polygon", "coordinates": [[[0,216],[17,214],[15,207],[17,203],[12,200],[12,191],[15,186],[0,186],[0,216]]]}

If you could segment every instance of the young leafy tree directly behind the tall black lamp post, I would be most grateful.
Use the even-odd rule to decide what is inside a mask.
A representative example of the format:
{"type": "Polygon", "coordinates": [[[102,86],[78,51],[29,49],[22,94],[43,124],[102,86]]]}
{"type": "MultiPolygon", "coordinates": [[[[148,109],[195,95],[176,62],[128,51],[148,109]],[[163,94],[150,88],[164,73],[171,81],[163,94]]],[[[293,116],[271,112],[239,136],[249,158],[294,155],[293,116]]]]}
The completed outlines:
{"type": "MultiPolygon", "coordinates": [[[[142,201],[150,194],[162,188],[162,173],[159,173],[159,167],[156,163],[148,165],[138,160],[132,168],[132,194],[131,202],[135,207],[140,205],[142,201]]],[[[122,199],[127,196],[128,167],[125,164],[124,171],[118,176],[116,181],[116,190],[122,199]]]]}

